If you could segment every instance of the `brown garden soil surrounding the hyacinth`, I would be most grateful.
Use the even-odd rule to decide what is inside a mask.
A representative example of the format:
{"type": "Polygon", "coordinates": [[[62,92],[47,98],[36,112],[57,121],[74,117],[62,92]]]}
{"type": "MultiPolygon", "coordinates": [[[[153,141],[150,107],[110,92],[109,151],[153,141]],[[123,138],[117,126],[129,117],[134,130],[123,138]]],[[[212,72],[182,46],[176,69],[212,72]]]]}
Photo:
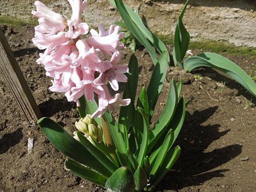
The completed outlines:
{"type": "MultiPolygon", "coordinates": [[[[33,29],[1,27],[42,114],[72,133],[74,122],[79,119],[76,105],[63,94],[48,90],[50,78],[35,62],[39,52],[31,42],[33,29]]],[[[171,51],[172,47],[168,49],[171,51]]],[[[124,63],[131,54],[129,49],[123,50],[124,63]]],[[[140,89],[147,85],[153,66],[145,50],[137,50],[135,55],[140,63],[140,89]]],[[[255,56],[223,55],[245,71],[256,63],[255,56]]],[[[187,101],[194,100],[187,106],[184,126],[176,142],[182,148],[181,156],[156,191],[256,191],[255,99],[219,72],[201,69],[191,74],[170,68],[154,120],[164,107],[168,80],[174,78],[178,82],[180,77],[182,95],[187,101]],[[202,79],[195,80],[196,74],[202,79]]],[[[24,120],[1,75],[0,93],[0,191],[104,191],[63,168],[65,157],[35,122],[24,120]],[[31,154],[27,150],[29,138],[34,139],[31,154]]]]}

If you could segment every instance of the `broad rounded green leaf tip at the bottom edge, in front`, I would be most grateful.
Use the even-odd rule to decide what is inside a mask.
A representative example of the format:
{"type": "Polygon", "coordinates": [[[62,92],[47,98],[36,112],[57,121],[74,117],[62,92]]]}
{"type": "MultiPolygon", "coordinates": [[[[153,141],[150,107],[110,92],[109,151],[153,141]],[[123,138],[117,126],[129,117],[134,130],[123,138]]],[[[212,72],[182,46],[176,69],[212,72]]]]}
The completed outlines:
{"type": "Polygon", "coordinates": [[[105,188],[115,192],[134,192],[135,182],[132,172],[127,167],[118,168],[106,181],[105,188]]]}

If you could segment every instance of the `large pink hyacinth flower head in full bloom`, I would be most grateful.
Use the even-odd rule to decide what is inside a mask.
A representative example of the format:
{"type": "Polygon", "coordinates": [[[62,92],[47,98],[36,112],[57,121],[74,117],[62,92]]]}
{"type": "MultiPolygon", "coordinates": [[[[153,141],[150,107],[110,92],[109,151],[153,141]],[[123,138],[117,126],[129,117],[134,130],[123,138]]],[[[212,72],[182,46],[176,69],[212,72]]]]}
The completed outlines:
{"type": "Polygon", "coordinates": [[[88,38],[82,39],[81,35],[89,33],[89,26],[81,20],[87,1],[68,2],[72,7],[70,19],[35,2],[36,11],[32,14],[38,17],[39,25],[32,41],[38,49],[45,50],[39,54],[37,63],[53,78],[50,90],[65,93],[68,101],[76,101],[79,106],[78,99],[83,95],[90,101],[97,95],[99,108],[92,117],[100,117],[115,105],[126,106],[131,102],[121,99],[120,94],[112,97],[109,91],[109,87],[118,91],[118,82],[127,81],[124,73],[129,69],[119,64],[124,33],[119,33],[119,26],[111,25],[105,31],[99,25],[99,32],[91,29],[88,38]]]}

